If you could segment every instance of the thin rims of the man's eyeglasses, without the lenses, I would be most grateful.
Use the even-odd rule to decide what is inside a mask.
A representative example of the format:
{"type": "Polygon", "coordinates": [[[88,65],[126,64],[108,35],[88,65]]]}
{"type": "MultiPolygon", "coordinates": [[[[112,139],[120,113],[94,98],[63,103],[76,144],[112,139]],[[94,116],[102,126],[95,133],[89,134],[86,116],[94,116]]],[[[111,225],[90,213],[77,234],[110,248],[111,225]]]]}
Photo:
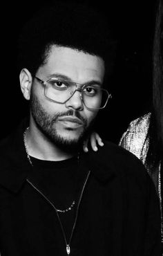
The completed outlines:
{"type": "Polygon", "coordinates": [[[66,102],[68,102],[68,100],[70,100],[70,98],[72,98],[73,97],[73,95],[75,94],[75,92],[76,91],[79,91],[79,93],[80,93],[80,98],[81,98],[81,101],[83,102],[83,104],[84,104],[84,106],[87,108],[87,109],[104,109],[105,107],[106,107],[106,104],[108,103],[108,99],[111,99],[112,98],[112,95],[111,95],[111,93],[108,93],[108,91],[106,90],[106,89],[103,89],[103,88],[100,88],[102,91],[106,91],[106,93],[108,94],[108,98],[107,98],[107,100],[106,100],[106,103],[104,104],[104,107],[100,107],[100,108],[90,108],[90,107],[87,107],[86,106],[86,104],[84,103],[84,100],[83,100],[83,97],[82,97],[82,91],[83,91],[83,89],[84,89],[84,86],[86,85],[86,84],[80,84],[80,83],[78,83],[78,82],[73,82],[73,81],[69,81],[69,80],[64,80],[65,82],[73,82],[75,85],[76,85],[76,88],[77,88],[77,84],[80,84],[80,85],[83,85],[82,87],[81,87],[81,89],[75,89],[75,91],[72,93],[72,95],[70,95],[70,98],[68,98],[67,100],[65,100],[64,102],[58,102],[57,100],[52,100],[51,98],[48,98],[48,96],[46,96],[46,84],[48,83],[48,81],[50,81],[50,80],[52,80],[53,78],[49,78],[48,80],[46,80],[46,81],[44,81],[44,80],[41,80],[39,77],[37,77],[37,76],[34,76],[34,78],[36,78],[41,84],[43,84],[44,85],[44,96],[48,99],[48,100],[50,100],[50,101],[52,101],[52,102],[55,102],[55,103],[59,103],[59,104],[65,104],[66,102]]]}

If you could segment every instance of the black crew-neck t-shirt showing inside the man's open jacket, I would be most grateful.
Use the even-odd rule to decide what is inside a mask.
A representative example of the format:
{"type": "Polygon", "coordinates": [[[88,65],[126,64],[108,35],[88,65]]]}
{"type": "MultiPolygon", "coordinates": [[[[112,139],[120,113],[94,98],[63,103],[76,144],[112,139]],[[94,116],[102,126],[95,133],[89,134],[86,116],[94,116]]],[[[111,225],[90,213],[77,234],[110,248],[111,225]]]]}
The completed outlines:
{"type": "MultiPolygon", "coordinates": [[[[33,170],[32,180],[37,188],[43,192],[48,199],[59,210],[70,208],[75,201],[77,176],[79,173],[79,161],[77,157],[65,161],[43,161],[30,156],[33,170]]],[[[67,240],[73,229],[75,221],[75,205],[68,212],[58,212],[67,240]]]]}

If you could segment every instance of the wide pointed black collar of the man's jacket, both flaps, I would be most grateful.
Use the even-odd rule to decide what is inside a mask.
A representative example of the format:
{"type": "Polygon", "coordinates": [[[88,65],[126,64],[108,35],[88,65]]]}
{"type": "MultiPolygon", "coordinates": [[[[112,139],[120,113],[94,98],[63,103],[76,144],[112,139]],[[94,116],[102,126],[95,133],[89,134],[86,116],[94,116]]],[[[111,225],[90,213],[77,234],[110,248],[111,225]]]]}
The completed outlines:
{"type": "MultiPolygon", "coordinates": [[[[23,132],[26,127],[28,120],[23,120],[18,129],[0,144],[0,184],[12,192],[21,189],[32,171],[23,144],[23,132]]],[[[105,147],[99,148],[97,152],[91,149],[89,153],[81,152],[81,161],[84,161],[99,182],[105,183],[116,175],[115,165],[111,158],[107,158],[105,147]]]]}

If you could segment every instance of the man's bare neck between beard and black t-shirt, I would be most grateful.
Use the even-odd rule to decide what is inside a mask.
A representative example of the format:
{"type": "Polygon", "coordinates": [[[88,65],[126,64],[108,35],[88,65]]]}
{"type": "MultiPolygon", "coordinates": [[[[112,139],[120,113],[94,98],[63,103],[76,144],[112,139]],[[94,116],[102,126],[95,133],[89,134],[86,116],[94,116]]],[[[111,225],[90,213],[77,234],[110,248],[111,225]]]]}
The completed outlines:
{"type": "Polygon", "coordinates": [[[30,156],[47,161],[63,161],[75,156],[59,149],[36,127],[29,127],[26,131],[26,150],[30,156]]]}

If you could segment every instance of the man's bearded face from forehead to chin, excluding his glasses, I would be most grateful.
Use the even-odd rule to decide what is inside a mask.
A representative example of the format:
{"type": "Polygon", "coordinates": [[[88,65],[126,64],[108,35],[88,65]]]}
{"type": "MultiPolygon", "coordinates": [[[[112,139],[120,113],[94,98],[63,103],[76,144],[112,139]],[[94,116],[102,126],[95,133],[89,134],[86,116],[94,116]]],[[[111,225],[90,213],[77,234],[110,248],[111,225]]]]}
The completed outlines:
{"type": "MultiPolygon", "coordinates": [[[[52,46],[46,64],[36,74],[41,80],[63,78],[87,84],[104,79],[104,61],[72,48],[52,46]]],[[[80,85],[79,85],[80,87],[80,85]]],[[[82,85],[81,85],[82,87],[82,85]]],[[[97,116],[97,110],[87,109],[80,92],[64,104],[52,102],[44,95],[44,85],[34,78],[30,99],[31,123],[57,145],[77,145],[97,116]]]]}

